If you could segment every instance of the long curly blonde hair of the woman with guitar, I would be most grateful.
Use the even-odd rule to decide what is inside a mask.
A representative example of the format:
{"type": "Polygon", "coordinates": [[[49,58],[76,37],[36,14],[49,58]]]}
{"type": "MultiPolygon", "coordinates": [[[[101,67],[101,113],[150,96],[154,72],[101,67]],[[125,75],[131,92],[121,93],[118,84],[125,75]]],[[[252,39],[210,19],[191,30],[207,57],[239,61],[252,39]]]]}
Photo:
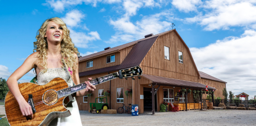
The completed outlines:
{"type": "MultiPolygon", "coordinates": [[[[68,66],[76,70],[76,68],[78,67],[76,58],[78,58],[80,53],[78,52],[78,49],[74,47],[74,43],[71,41],[70,30],[67,28],[66,24],[58,17],[47,19],[37,32],[37,36],[36,36],[37,41],[34,42],[33,52],[35,52],[35,50],[38,52],[37,56],[39,58],[39,66],[38,66],[39,69],[42,72],[47,71],[48,44],[47,44],[47,39],[46,37],[44,37],[44,35],[46,34],[47,25],[50,21],[54,21],[54,23],[59,24],[62,27],[62,31],[63,31],[63,39],[61,42],[62,60],[65,57],[66,60],[68,60],[68,66]],[[78,56],[74,56],[74,53],[77,54],[78,56]]],[[[62,64],[64,64],[63,61],[62,61],[62,64]]],[[[62,68],[63,67],[64,66],[62,66],[62,68]]]]}

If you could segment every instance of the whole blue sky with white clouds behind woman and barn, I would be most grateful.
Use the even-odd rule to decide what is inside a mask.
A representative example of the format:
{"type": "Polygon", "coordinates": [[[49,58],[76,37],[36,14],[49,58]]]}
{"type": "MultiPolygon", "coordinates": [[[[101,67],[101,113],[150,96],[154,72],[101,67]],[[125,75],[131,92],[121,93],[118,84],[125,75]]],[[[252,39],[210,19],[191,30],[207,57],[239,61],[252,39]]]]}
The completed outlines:
{"type": "MultiPolygon", "coordinates": [[[[198,70],[235,94],[256,95],[254,0],[0,0],[0,77],[32,53],[42,23],[62,18],[82,56],[171,29],[190,48],[198,70]]],[[[32,71],[19,82],[34,77],[32,71]]]]}

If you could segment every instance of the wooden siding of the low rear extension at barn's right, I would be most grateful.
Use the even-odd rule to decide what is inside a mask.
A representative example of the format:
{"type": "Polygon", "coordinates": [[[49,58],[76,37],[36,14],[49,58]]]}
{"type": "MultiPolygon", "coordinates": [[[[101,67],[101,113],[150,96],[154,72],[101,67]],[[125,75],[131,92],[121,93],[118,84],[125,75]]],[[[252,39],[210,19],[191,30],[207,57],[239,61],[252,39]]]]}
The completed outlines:
{"type": "MultiPolygon", "coordinates": [[[[204,78],[199,79],[199,83],[205,84],[205,85],[210,83],[208,86],[215,87],[217,89],[216,91],[214,91],[214,96],[216,98],[220,97],[221,99],[224,99],[224,96],[222,95],[222,91],[226,87],[225,83],[214,81],[214,80],[209,80],[209,79],[204,79],[204,78]]],[[[207,97],[207,94],[203,94],[202,98],[205,99],[206,97],[207,97]]]]}

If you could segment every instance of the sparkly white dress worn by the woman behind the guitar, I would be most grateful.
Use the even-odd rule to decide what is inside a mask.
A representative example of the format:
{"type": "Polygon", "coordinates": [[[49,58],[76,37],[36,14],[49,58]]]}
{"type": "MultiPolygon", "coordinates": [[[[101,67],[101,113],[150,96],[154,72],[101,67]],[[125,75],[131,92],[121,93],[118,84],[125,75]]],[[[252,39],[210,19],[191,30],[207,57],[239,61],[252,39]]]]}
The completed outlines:
{"type": "MultiPolygon", "coordinates": [[[[38,84],[47,84],[56,77],[64,79],[69,86],[73,86],[73,81],[66,68],[48,68],[47,72],[40,72],[37,76],[38,84]]],[[[71,113],[69,117],[56,118],[48,126],[82,126],[77,101],[70,102],[67,109],[71,113]]]]}

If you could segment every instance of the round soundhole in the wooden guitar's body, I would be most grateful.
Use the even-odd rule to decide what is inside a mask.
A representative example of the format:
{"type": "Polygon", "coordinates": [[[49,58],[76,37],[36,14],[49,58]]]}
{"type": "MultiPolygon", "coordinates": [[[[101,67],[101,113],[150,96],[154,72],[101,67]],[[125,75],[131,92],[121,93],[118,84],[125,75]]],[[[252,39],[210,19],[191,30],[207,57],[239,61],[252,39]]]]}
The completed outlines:
{"type": "Polygon", "coordinates": [[[43,95],[43,101],[46,105],[54,105],[58,101],[58,94],[54,90],[46,91],[43,95]]]}

